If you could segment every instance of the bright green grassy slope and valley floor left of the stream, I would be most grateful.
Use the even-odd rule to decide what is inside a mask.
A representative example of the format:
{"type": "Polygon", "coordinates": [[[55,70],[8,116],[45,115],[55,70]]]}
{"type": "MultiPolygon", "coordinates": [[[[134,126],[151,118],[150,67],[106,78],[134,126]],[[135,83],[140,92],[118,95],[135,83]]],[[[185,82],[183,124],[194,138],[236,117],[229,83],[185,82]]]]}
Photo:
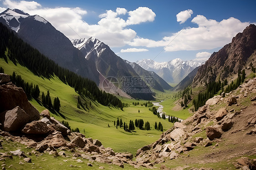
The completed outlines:
{"type": "MultiPolygon", "coordinates": [[[[129,99],[121,100],[125,103],[129,103],[130,107],[124,108],[124,111],[115,108],[109,108],[91,101],[92,106],[89,106],[90,100],[87,100],[89,111],[80,110],[77,108],[77,96],[73,88],[65,85],[57,77],[53,77],[50,80],[38,77],[31,73],[27,68],[17,64],[15,66],[11,61],[7,64],[3,59],[0,59],[0,66],[4,68],[5,74],[11,75],[15,71],[16,75],[21,75],[22,79],[26,82],[38,84],[41,94],[42,91],[47,93],[50,91],[52,101],[55,97],[59,97],[61,101],[61,115],[65,116],[65,119],[61,115],[53,115],[57,120],[65,120],[71,125],[71,128],[78,127],[80,132],[84,133],[86,137],[92,137],[102,142],[105,147],[111,147],[116,152],[129,151],[133,154],[144,146],[148,145],[159,139],[161,131],[153,130],[155,121],[163,124],[164,130],[172,127],[172,123],[168,120],[162,120],[153,115],[148,108],[144,106],[134,106],[133,101],[129,99]],[[138,113],[140,110],[140,113],[138,113]],[[152,130],[139,130],[129,133],[125,132],[123,128],[114,127],[113,122],[119,117],[123,122],[129,122],[129,120],[135,121],[135,119],[143,119],[144,122],[149,121],[152,130]],[[110,127],[108,127],[108,124],[110,127]]],[[[41,95],[40,95],[41,97],[41,95]]],[[[138,101],[137,101],[138,102],[138,101]]],[[[139,101],[143,102],[143,101],[139,101]]],[[[45,108],[38,104],[36,100],[31,101],[32,105],[36,107],[40,112],[45,108]]]]}

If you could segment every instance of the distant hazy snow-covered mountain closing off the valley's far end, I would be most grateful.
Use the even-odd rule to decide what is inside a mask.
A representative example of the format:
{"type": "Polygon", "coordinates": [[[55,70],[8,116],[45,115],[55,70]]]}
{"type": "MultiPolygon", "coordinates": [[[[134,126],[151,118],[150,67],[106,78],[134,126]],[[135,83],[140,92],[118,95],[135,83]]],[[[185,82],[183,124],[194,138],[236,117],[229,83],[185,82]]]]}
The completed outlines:
{"type": "Polygon", "coordinates": [[[179,83],[192,70],[201,65],[201,63],[193,60],[183,61],[179,58],[161,63],[151,59],[143,59],[136,61],[136,63],[145,70],[154,71],[168,83],[179,83]]]}

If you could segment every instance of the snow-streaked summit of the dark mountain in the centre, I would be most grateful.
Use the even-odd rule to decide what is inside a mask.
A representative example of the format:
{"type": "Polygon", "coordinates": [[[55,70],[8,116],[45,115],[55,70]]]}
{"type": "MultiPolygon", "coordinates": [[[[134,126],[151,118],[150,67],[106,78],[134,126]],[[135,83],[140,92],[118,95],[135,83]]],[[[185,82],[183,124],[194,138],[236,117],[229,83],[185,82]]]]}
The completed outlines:
{"type": "Polygon", "coordinates": [[[83,51],[85,58],[87,58],[92,52],[96,53],[97,57],[99,57],[107,48],[107,45],[94,37],[91,37],[88,40],[86,38],[72,40],[72,43],[74,47],[83,51]]]}

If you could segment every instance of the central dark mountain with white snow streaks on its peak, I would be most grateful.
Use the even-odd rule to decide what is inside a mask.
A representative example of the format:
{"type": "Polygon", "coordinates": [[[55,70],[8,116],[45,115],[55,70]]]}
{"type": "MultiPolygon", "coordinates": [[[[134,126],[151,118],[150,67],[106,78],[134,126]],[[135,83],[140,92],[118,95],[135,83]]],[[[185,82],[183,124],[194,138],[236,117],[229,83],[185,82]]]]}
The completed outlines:
{"type": "MultiPolygon", "coordinates": [[[[130,78],[133,80],[134,77],[140,77],[133,67],[127,64],[122,58],[116,55],[108,45],[103,42],[97,40],[96,38],[80,39],[80,40],[72,40],[74,47],[77,47],[83,54],[83,56],[87,59],[88,62],[94,64],[97,70],[104,77],[114,77],[122,84],[123,88],[123,78],[130,78]]],[[[148,93],[133,93],[131,91],[126,91],[128,95],[133,98],[139,98],[144,100],[154,100],[154,93],[150,92],[150,88],[148,85],[145,85],[145,81],[141,81],[142,85],[137,87],[132,87],[133,89],[146,89],[148,93]],[[145,85],[143,87],[143,85],[145,85]]],[[[119,86],[120,87],[120,86],[119,86]]]]}

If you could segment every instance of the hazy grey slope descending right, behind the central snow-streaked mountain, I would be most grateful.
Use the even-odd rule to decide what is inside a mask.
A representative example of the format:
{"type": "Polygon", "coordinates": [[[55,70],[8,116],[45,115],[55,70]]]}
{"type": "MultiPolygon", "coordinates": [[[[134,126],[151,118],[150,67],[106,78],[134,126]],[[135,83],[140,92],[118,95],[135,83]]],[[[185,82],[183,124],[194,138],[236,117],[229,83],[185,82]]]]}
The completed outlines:
{"type": "Polygon", "coordinates": [[[141,77],[154,77],[154,87],[153,89],[164,92],[164,90],[169,90],[172,88],[168,83],[166,83],[159,75],[157,75],[154,71],[147,71],[143,69],[136,63],[129,62],[124,60],[126,63],[133,67],[133,70],[141,77]]]}

